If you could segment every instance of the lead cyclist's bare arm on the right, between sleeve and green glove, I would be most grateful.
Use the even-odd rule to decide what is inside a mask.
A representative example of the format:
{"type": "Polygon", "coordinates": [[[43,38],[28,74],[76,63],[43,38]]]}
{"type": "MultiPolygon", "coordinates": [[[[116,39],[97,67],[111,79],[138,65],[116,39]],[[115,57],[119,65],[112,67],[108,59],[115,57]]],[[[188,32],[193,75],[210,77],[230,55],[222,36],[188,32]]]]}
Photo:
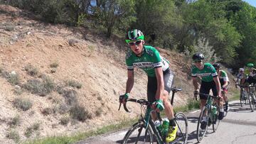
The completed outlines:
{"type": "Polygon", "coordinates": [[[161,97],[161,96],[163,96],[163,93],[164,93],[164,74],[163,74],[163,70],[162,70],[161,67],[156,67],[154,70],[156,72],[156,79],[157,79],[156,100],[157,99],[163,100],[163,98],[161,97]]]}

